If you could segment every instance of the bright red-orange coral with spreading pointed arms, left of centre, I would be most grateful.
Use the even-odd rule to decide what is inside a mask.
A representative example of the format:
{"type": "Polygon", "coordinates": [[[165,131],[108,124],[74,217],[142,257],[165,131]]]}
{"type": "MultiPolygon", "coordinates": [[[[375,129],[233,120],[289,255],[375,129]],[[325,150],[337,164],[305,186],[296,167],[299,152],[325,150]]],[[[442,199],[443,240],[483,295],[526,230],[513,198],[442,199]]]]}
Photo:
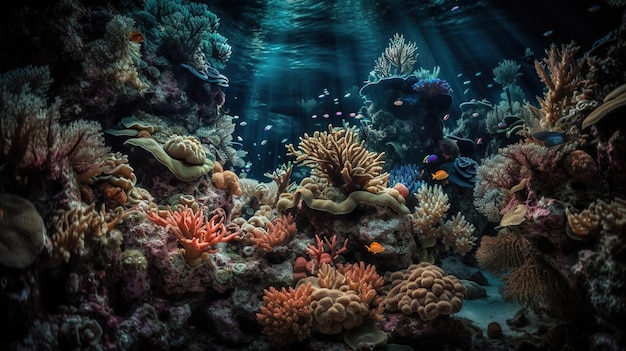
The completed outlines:
{"type": "Polygon", "coordinates": [[[197,266],[209,258],[209,254],[218,252],[213,248],[220,242],[227,242],[239,236],[239,233],[228,233],[224,225],[224,216],[219,213],[206,220],[204,208],[195,213],[186,206],[179,206],[176,211],[170,207],[165,218],[156,212],[148,212],[147,217],[154,223],[166,227],[183,246],[185,260],[191,266],[197,266]]]}

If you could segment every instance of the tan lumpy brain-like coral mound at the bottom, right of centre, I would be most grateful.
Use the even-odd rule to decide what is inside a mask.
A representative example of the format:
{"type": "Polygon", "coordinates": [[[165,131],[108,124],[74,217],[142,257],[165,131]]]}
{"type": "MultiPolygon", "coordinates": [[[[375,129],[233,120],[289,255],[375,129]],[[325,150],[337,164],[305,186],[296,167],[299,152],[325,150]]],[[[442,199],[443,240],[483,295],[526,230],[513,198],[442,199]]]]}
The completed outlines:
{"type": "Polygon", "coordinates": [[[441,268],[427,262],[411,265],[406,272],[390,276],[391,290],[384,301],[387,311],[401,311],[406,315],[418,313],[424,321],[461,310],[467,288],[441,268]]]}

